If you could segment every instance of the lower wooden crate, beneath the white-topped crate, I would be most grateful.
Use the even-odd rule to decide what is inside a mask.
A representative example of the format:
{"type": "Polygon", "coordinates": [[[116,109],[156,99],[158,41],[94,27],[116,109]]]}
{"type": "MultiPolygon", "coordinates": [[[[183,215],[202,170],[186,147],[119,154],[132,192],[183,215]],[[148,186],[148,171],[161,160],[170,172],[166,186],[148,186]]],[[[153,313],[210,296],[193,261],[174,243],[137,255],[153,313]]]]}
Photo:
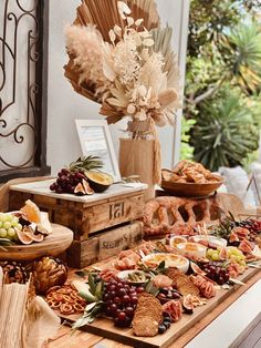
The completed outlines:
{"type": "Polygon", "coordinates": [[[121,227],[98,233],[87,240],[74,240],[66,253],[69,266],[83,268],[137,246],[143,239],[142,225],[140,222],[126,223],[121,227]]]}

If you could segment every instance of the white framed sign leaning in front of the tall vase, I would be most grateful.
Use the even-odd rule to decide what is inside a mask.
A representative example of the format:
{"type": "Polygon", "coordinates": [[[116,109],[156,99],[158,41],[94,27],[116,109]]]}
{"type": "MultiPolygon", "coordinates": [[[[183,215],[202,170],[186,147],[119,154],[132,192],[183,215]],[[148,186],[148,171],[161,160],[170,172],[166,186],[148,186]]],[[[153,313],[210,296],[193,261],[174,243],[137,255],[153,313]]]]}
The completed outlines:
{"type": "Polygon", "coordinates": [[[121,181],[118,163],[113,141],[105,120],[75,120],[84,156],[100,156],[104,163],[102,171],[111,174],[114,182],[121,181]]]}

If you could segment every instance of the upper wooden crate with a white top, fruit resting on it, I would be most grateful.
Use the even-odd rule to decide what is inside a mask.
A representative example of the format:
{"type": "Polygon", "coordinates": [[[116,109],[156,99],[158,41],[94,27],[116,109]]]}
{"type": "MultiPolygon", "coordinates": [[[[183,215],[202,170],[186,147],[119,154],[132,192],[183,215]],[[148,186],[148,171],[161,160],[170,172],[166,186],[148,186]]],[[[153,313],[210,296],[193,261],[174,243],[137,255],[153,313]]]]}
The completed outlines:
{"type": "Polygon", "coordinates": [[[53,180],[12,185],[9,208],[19,209],[32,199],[49,212],[51,222],[74,232],[75,240],[86,240],[94,233],[142,217],[146,185],[136,188],[112,185],[105,193],[91,196],[59,195],[49,190],[53,180]]]}

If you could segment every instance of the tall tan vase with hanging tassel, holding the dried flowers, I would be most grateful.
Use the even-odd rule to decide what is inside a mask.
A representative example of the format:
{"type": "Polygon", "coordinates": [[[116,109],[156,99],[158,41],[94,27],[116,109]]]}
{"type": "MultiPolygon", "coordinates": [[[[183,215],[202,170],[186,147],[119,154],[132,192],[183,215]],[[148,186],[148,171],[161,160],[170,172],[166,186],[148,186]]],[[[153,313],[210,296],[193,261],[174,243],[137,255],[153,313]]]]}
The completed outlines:
{"type": "Polygon", "coordinates": [[[139,181],[148,185],[145,192],[145,201],[155,197],[155,184],[157,183],[157,171],[160,171],[160,161],[157,163],[158,151],[157,140],[147,136],[146,124],[130,123],[128,131],[132,135],[127,139],[119,139],[119,171],[123,177],[138,175],[139,181]],[[138,126],[138,132],[137,130],[138,126]]]}

